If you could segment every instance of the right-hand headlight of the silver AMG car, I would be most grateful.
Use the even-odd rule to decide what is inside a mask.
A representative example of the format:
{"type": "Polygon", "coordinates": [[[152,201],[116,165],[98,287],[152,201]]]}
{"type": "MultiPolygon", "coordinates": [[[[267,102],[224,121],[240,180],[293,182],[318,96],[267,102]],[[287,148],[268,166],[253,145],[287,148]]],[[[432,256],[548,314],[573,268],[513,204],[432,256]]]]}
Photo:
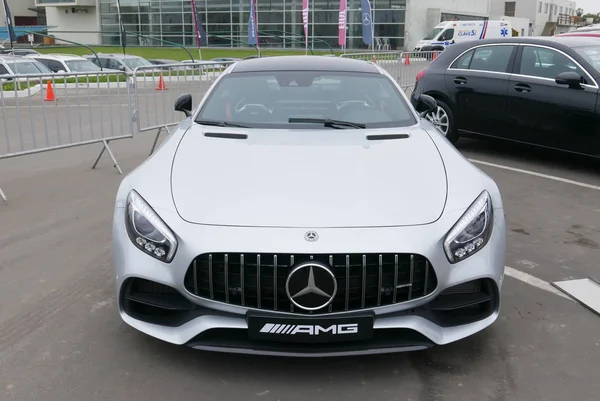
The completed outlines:
{"type": "Polygon", "coordinates": [[[487,244],[492,233],[493,211],[490,194],[483,191],[444,239],[450,263],[468,258],[487,244]]]}

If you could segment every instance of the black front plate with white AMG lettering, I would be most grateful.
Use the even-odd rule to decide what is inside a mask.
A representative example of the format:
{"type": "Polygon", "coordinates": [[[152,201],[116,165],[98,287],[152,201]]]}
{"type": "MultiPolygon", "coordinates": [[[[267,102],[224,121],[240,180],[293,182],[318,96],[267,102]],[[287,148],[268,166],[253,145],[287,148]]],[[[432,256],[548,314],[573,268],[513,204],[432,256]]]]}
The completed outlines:
{"type": "Polygon", "coordinates": [[[248,337],[254,340],[328,343],[369,340],[372,316],[339,318],[248,316],[248,337]]]}

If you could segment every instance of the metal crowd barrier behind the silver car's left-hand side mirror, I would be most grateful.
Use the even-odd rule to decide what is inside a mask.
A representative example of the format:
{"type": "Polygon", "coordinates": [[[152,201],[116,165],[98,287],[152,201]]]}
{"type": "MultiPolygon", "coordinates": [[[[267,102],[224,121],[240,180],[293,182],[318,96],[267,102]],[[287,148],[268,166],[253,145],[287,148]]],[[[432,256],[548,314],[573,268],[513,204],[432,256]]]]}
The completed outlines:
{"type": "Polygon", "coordinates": [[[221,73],[233,62],[196,62],[138,67],[132,75],[132,120],[138,132],[156,131],[150,154],[160,135],[182,119],[175,100],[189,93],[198,104],[221,73]]]}

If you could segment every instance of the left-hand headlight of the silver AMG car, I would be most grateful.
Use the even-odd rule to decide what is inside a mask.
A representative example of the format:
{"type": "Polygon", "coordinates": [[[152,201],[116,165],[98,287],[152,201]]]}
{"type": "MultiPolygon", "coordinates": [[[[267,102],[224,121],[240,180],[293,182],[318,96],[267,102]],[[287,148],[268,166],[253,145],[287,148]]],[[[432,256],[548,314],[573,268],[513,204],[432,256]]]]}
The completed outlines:
{"type": "Polygon", "coordinates": [[[141,251],[165,263],[173,260],[177,251],[175,234],[134,190],[127,197],[125,224],[129,238],[141,251]]]}

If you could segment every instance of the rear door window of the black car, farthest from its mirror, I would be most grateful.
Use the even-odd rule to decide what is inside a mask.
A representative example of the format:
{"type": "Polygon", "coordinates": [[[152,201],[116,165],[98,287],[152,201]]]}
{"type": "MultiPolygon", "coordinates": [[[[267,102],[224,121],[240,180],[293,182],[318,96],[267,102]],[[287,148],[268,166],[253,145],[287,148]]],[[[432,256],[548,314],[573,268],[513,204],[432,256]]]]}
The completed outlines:
{"type": "Polygon", "coordinates": [[[452,64],[464,70],[507,72],[513,45],[484,46],[473,49],[452,64]]]}

